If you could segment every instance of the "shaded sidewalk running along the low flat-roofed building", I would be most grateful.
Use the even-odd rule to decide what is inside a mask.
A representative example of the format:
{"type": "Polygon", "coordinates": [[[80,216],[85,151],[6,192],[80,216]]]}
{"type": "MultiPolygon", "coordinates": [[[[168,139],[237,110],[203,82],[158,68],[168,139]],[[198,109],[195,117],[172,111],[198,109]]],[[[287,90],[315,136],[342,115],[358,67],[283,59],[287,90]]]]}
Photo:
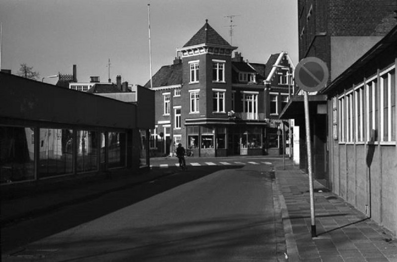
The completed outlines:
{"type": "Polygon", "coordinates": [[[39,192],[15,199],[1,199],[1,227],[16,220],[40,215],[60,207],[94,199],[109,192],[148,182],[170,174],[167,170],[158,169],[151,170],[150,172],[141,170],[135,174],[127,174],[125,172],[124,170],[116,170],[111,174],[113,178],[100,179],[92,181],[91,183],[82,182],[73,187],[67,186],[59,190],[39,192]]]}

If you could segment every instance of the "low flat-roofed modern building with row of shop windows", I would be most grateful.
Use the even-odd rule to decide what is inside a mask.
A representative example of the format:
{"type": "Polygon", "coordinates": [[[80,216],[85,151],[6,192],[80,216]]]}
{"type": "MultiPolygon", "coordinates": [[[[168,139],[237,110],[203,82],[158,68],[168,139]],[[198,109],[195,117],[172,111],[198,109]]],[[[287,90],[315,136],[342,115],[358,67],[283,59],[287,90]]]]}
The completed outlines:
{"type": "Polygon", "coordinates": [[[1,72],[1,184],[139,168],[154,92],[134,93],[123,102],[1,72]]]}

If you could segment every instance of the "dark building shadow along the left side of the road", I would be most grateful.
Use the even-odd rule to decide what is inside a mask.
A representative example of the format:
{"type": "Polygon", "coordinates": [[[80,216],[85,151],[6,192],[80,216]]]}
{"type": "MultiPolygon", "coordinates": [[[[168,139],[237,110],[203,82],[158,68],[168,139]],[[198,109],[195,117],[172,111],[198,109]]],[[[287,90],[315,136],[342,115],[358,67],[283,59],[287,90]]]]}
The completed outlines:
{"type": "MultiPolygon", "coordinates": [[[[192,182],[221,170],[241,168],[230,166],[190,166],[187,171],[177,167],[166,170],[168,175],[140,184],[124,185],[117,189],[95,194],[81,201],[61,205],[52,210],[30,213],[27,217],[1,227],[1,253],[36,240],[54,235],[72,227],[92,221],[116,210],[123,209],[157,194],[192,182]]],[[[106,183],[107,181],[103,181],[106,183]]],[[[93,191],[97,184],[79,185],[87,191],[93,191]]],[[[69,194],[68,190],[54,192],[49,197],[57,198],[69,194]]]]}

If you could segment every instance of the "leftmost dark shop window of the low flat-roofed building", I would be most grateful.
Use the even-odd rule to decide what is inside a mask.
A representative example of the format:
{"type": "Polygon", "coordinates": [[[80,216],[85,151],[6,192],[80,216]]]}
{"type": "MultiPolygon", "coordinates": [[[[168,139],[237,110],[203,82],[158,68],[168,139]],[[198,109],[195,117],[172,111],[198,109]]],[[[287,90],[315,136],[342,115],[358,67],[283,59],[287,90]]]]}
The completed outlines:
{"type": "Polygon", "coordinates": [[[0,126],[1,184],[35,179],[34,128],[0,126]]]}

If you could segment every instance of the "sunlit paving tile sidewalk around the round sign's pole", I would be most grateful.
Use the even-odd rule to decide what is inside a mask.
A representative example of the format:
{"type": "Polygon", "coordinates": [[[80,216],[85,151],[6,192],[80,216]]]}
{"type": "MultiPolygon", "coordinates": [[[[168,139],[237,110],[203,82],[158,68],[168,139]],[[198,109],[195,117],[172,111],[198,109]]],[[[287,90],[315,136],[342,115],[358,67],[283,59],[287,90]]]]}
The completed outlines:
{"type": "MultiPolygon", "coordinates": [[[[308,175],[275,167],[291,262],[397,262],[397,240],[337,195],[315,190],[317,237],[311,237],[308,175]]],[[[324,188],[314,181],[314,188],[324,188]]]]}

